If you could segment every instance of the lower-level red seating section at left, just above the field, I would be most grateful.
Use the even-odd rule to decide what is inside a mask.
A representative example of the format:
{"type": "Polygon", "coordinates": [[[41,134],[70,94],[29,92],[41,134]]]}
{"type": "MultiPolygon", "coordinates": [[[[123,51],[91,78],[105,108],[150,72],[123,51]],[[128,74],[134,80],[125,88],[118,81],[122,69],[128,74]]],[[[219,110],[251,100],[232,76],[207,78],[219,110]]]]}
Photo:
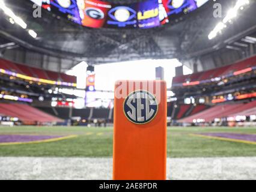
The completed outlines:
{"type": "Polygon", "coordinates": [[[62,119],[44,113],[26,104],[0,103],[0,114],[29,122],[61,122],[62,119]]]}

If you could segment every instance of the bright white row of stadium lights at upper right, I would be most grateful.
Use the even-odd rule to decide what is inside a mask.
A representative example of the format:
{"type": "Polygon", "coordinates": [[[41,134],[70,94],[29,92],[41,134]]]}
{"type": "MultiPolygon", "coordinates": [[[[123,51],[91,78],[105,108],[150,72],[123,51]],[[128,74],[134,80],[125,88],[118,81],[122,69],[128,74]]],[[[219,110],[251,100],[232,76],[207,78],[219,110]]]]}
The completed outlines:
{"type": "Polygon", "coordinates": [[[238,11],[243,10],[243,6],[248,4],[249,0],[238,0],[236,5],[228,11],[227,16],[224,17],[222,22],[219,22],[213,31],[210,32],[208,35],[209,40],[212,40],[218,34],[221,34],[222,29],[227,28],[228,23],[231,23],[231,20],[237,16],[238,11]]]}

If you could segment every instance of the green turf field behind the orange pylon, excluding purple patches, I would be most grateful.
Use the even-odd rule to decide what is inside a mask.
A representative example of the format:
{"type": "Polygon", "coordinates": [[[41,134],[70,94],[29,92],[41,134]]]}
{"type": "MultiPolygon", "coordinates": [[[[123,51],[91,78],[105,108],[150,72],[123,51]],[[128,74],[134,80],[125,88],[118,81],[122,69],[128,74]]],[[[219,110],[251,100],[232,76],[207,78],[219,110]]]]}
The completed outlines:
{"type": "MultiPolygon", "coordinates": [[[[0,145],[0,157],[111,157],[112,128],[95,127],[0,127],[0,135],[76,135],[47,143],[0,145]]],[[[168,157],[256,156],[253,143],[240,143],[192,136],[198,133],[256,134],[256,128],[169,127],[168,157]]]]}

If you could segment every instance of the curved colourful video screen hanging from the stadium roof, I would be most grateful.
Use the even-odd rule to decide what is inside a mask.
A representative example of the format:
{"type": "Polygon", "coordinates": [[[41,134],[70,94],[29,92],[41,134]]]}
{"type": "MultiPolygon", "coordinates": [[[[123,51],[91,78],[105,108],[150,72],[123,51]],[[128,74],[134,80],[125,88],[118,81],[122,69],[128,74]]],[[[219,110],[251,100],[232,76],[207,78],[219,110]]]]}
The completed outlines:
{"type": "Polygon", "coordinates": [[[30,0],[90,28],[154,28],[197,10],[209,0],[147,0],[112,4],[98,0],[30,0]]]}

